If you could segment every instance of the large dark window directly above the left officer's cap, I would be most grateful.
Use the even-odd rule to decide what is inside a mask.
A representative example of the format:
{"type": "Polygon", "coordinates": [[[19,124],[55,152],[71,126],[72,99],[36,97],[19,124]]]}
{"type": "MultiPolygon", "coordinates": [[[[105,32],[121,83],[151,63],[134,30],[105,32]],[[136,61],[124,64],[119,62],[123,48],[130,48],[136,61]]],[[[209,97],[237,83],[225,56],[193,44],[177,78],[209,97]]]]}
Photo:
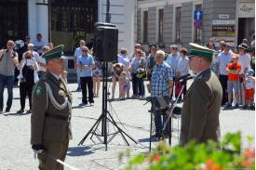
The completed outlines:
{"type": "Polygon", "coordinates": [[[74,54],[79,40],[87,43],[98,20],[98,2],[92,0],[51,0],[51,41],[63,44],[66,54],[74,54]]]}

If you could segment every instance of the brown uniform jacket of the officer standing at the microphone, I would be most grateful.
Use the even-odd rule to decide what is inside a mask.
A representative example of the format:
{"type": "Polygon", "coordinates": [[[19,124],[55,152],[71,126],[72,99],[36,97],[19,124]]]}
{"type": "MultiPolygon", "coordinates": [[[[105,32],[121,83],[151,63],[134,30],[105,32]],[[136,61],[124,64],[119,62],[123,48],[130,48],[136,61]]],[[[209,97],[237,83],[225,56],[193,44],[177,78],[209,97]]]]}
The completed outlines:
{"type": "Polygon", "coordinates": [[[218,77],[209,69],[198,74],[182,106],[181,145],[193,139],[218,140],[221,102],[222,85],[218,77]]]}

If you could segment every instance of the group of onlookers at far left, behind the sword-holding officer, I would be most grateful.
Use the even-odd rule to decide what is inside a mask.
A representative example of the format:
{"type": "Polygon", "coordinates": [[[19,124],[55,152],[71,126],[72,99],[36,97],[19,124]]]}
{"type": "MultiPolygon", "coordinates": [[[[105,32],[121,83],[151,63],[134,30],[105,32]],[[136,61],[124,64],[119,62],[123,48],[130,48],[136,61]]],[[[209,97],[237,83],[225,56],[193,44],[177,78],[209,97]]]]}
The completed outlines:
{"type": "MultiPolygon", "coordinates": [[[[25,100],[29,98],[29,110],[32,109],[32,90],[36,82],[46,72],[46,59],[42,58],[49,49],[54,46],[46,44],[42,40],[42,34],[36,34],[36,40],[31,43],[30,36],[25,37],[24,45],[16,49],[17,44],[7,41],[7,48],[0,51],[0,111],[4,110],[4,88],[7,86],[6,112],[10,111],[13,99],[13,87],[20,84],[20,110],[17,113],[25,112],[25,100]]],[[[66,73],[63,72],[63,80],[66,80],[66,73]]]]}

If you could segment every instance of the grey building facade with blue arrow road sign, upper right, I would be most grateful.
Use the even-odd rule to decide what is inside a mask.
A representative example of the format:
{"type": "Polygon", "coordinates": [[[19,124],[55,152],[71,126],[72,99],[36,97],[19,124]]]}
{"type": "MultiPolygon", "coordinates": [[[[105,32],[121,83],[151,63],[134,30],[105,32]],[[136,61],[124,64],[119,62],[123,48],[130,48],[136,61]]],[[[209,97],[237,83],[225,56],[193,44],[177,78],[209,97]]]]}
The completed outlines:
{"type": "Polygon", "coordinates": [[[237,46],[255,31],[254,0],[138,0],[137,6],[135,39],[144,46],[207,45],[209,38],[237,46]]]}

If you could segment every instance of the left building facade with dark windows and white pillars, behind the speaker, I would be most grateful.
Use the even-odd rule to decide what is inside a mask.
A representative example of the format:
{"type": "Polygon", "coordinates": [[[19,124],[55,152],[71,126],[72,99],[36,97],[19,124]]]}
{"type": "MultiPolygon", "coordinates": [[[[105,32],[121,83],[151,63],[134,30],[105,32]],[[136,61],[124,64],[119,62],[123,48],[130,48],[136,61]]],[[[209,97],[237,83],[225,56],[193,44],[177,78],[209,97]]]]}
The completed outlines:
{"type": "MultiPolygon", "coordinates": [[[[135,0],[111,0],[111,22],[119,30],[118,46],[133,48],[135,0]]],[[[63,44],[65,54],[72,55],[79,39],[90,38],[94,22],[105,21],[106,0],[0,0],[0,46],[8,39],[24,40],[42,33],[45,42],[63,44]]]]}

